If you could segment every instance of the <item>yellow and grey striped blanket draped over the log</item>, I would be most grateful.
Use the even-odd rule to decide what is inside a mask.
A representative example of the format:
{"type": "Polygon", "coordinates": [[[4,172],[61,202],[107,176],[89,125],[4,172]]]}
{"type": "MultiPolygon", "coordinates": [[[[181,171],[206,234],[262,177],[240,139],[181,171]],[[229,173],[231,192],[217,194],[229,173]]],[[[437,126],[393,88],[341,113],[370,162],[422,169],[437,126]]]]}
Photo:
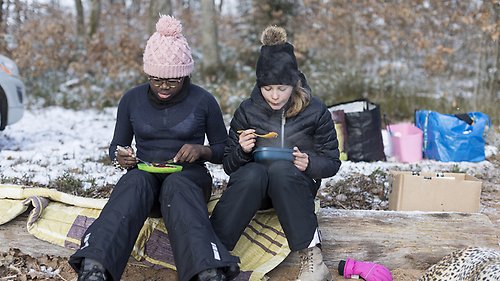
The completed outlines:
{"type": "MultiPolygon", "coordinates": [[[[209,213],[220,195],[208,203],[209,213]]],[[[91,199],[55,189],[0,185],[0,225],[31,210],[27,228],[38,239],[76,250],[87,227],[99,216],[106,199],[91,199]]],[[[241,260],[241,274],[235,280],[263,280],[290,253],[274,211],[259,212],[232,252],[241,260]]],[[[147,265],[175,270],[167,230],[161,218],[148,218],[132,251],[147,265]]]]}

